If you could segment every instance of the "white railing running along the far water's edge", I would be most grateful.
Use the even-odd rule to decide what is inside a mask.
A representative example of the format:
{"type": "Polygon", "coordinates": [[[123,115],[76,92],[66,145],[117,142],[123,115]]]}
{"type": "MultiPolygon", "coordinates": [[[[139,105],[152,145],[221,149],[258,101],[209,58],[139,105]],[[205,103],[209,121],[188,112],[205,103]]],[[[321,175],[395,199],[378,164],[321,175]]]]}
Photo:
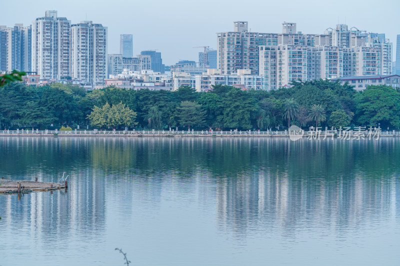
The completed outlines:
{"type": "MultiPolygon", "coordinates": [[[[315,135],[315,131],[303,131],[303,136],[312,136],[315,135]]],[[[319,137],[324,137],[325,135],[328,137],[333,136],[342,136],[343,131],[339,132],[338,130],[327,130],[327,131],[318,131],[319,137]]],[[[367,136],[367,131],[363,131],[360,134],[359,131],[347,131],[347,136],[357,137],[362,135],[361,137],[367,136]]],[[[293,134],[293,133],[291,133],[293,134]]],[[[400,131],[379,131],[377,132],[379,136],[400,136],[400,131]]],[[[289,136],[287,130],[285,131],[194,131],[194,130],[123,130],[123,131],[116,131],[116,130],[72,130],[72,131],[60,131],[60,130],[2,130],[0,131],[0,136],[4,135],[18,135],[18,136],[32,136],[32,135],[39,135],[39,136],[47,136],[47,135],[59,135],[59,136],[76,136],[76,135],[112,135],[112,136],[127,136],[127,135],[141,135],[141,136],[167,136],[167,135],[186,135],[186,136],[289,136]]]]}

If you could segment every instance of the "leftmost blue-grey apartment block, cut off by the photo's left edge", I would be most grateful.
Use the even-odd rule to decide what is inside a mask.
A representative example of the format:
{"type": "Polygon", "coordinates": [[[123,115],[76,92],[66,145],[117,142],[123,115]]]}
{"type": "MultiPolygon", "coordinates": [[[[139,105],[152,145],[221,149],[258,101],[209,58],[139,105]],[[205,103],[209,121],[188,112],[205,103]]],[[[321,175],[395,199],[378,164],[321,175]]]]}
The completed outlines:
{"type": "Polygon", "coordinates": [[[0,71],[31,71],[31,27],[0,26],[0,71]]]}

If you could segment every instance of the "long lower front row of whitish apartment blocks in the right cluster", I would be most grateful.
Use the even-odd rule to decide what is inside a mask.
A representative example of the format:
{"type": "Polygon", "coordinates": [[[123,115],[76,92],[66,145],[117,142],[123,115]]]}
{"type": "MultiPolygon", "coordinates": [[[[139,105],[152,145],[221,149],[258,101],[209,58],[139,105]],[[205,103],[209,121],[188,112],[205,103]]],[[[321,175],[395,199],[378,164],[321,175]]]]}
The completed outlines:
{"type": "Polygon", "coordinates": [[[259,75],[265,77],[266,90],[276,90],[290,81],[380,75],[380,64],[380,49],[374,47],[259,47],[259,75]]]}

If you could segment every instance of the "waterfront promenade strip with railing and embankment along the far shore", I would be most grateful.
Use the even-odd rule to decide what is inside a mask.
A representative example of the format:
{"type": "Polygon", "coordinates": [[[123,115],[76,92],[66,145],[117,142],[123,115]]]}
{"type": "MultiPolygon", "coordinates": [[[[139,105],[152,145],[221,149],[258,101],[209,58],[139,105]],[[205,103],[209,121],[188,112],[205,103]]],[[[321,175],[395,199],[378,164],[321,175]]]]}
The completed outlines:
{"type": "Polygon", "coordinates": [[[380,130],[310,130],[310,131],[194,131],[194,130],[3,130],[1,136],[109,136],[109,137],[306,137],[306,138],[378,138],[378,137],[400,137],[400,131],[380,130]]]}

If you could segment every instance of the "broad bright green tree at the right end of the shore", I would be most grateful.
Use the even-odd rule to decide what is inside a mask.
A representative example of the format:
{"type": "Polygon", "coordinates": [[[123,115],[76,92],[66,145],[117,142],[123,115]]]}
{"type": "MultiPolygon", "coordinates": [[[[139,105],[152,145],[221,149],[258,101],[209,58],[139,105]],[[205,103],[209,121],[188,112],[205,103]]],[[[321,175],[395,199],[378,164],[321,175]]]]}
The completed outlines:
{"type": "Polygon", "coordinates": [[[388,86],[368,86],[355,97],[356,121],[362,125],[400,127],[400,92],[388,86]]]}

